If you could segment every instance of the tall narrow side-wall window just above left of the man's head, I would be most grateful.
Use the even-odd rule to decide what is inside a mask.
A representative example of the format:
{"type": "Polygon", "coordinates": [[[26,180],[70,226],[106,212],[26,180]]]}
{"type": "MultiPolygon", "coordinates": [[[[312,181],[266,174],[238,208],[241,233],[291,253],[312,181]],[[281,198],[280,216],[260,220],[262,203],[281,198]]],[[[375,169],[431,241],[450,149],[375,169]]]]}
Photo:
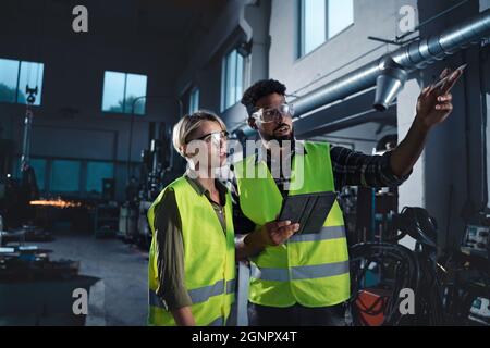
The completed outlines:
{"type": "Polygon", "coordinates": [[[243,94],[244,58],[233,50],[223,59],[221,70],[221,111],[233,107],[243,94]]]}

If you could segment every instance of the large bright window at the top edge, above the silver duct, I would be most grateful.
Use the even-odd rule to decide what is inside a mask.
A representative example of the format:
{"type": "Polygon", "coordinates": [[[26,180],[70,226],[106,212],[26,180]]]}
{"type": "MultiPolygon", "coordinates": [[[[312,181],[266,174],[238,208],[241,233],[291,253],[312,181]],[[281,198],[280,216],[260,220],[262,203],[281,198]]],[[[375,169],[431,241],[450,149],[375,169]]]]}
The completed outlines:
{"type": "Polygon", "coordinates": [[[354,0],[299,0],[299,55],[354,23],[354,0]]]}

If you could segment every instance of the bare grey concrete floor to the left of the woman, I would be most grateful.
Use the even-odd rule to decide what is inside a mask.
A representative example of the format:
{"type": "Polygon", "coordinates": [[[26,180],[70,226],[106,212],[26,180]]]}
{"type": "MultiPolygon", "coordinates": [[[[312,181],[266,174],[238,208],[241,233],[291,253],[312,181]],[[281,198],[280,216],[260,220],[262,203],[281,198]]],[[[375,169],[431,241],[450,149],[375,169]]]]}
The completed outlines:
{"type": "Polygon", "coordinates": [[[100,278],[89,295],[86,325],[146,325],[148,307],[148,253],[114,238],[93,235],[54,235],[51,260],[81,262],[79,274],[100,278]]]}

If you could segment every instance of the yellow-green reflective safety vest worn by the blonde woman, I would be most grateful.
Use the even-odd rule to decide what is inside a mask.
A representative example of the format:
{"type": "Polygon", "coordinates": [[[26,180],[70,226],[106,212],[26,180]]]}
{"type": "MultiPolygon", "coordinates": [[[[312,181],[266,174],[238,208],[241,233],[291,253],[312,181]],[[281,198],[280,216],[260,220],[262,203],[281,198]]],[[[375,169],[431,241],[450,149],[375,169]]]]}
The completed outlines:
{"type": "Polygon", "coordinates": [[[149,325],[175,325],[172,313],[157,296],[158,268],[155,237],[155,207],[168,189],[175,192],[184,241],[185,287],[198,326],[221,326],[230,314],[235,293],[235,246],[230,194],[224,207],[226,235],[211,203],[198,195],[185,177],[167,186],[148,210],[152,232],[149,251],[149,325]]]}

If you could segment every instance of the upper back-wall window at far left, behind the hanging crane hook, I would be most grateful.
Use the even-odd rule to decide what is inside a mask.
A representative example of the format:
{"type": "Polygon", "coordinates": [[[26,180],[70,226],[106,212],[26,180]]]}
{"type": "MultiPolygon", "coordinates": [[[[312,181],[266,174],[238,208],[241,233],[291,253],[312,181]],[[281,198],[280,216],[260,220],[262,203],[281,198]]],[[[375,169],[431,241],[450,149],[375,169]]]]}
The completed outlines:
{"type": "Polygon", "coordinates": [[[26,87],[36,88],[34,105],[40,105],[44,64],[0,59],[0,101],[27,103],[26,87]]]}

